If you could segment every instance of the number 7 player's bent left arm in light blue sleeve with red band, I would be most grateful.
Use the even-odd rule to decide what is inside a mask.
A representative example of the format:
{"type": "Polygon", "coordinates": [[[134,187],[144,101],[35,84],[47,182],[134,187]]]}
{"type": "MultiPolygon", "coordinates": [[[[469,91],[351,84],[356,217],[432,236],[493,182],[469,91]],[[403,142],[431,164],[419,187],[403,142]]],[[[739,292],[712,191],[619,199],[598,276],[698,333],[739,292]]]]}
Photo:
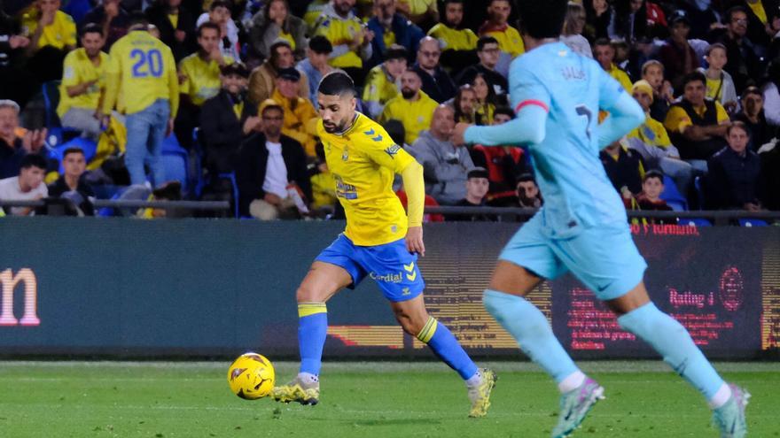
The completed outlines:
{"type": "Polygon", "coordinates": [[[459,124],[456,140],[461,140],[457,136],[462,134],[463,142],[485,146],[538,144],[544,141],[550,93],[524,65],[512,66],[509,81],[511,105],[517,117],[491,127],[464,127],[459,124]]]}

